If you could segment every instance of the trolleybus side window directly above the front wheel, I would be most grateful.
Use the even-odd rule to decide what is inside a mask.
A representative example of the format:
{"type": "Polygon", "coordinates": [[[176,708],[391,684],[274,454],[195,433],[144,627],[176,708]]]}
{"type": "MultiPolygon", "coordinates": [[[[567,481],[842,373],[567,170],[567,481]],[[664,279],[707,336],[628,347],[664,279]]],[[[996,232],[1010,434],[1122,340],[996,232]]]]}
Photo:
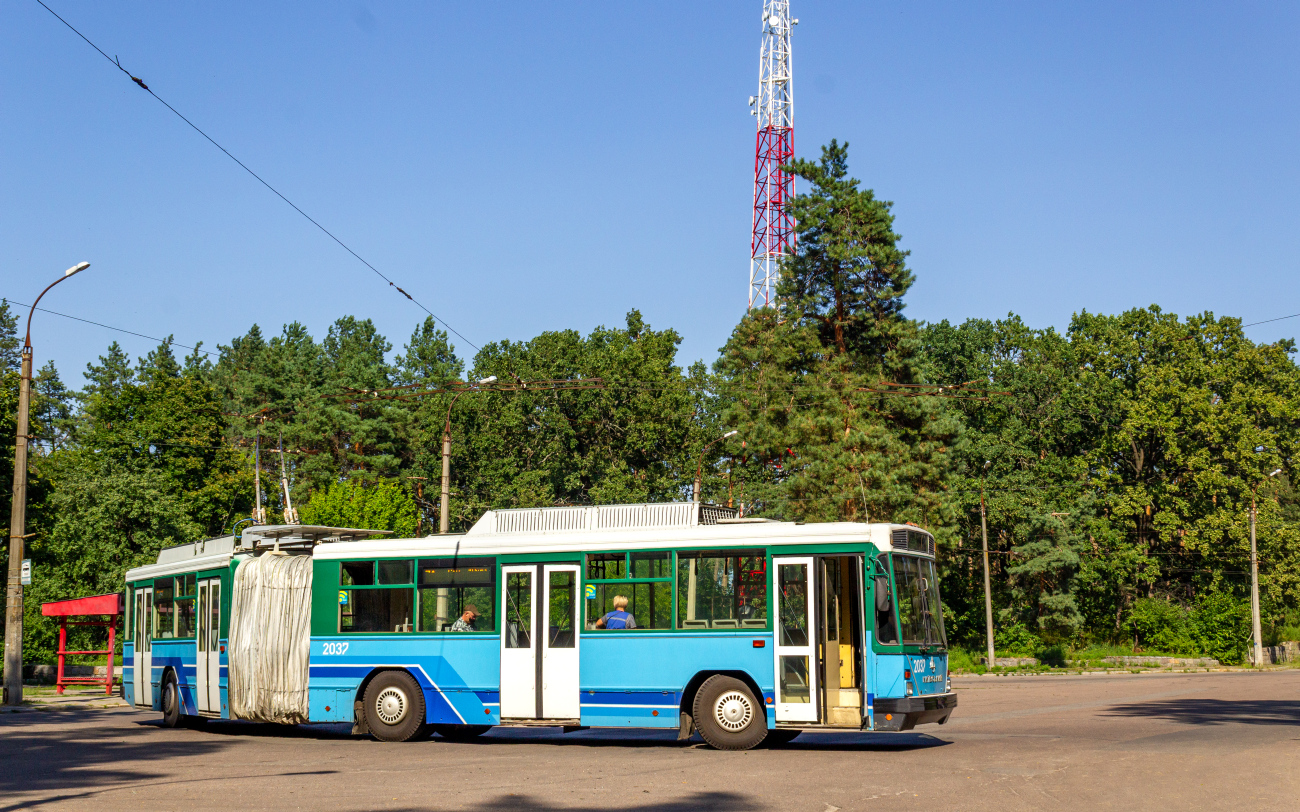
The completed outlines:
{"type": "Polygon", "coordinates": [[[677,553],[679,629],[766,629],[767,553],[677,553]]]}

